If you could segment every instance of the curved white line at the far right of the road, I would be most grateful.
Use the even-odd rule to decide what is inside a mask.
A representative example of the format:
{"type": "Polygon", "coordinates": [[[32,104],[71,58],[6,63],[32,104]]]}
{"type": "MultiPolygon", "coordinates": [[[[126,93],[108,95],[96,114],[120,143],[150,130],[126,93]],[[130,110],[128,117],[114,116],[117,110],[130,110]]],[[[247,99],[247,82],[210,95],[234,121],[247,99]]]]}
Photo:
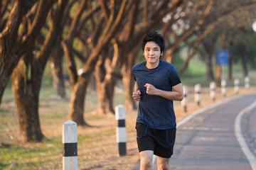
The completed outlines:
{"type": "Polygon", "coordinates": [[[237,117],[235,118],[235,136],[238,139],[239,145],[242,148],[242,152],[244,152],[245,157],[247,157],[248,161],[250,162],[250,166],[252,167],[252,170],[256,170],[256,158],[250,152],[249,147],[247,146],[247,143],[245,142],[245,138],[242,136],[242,130],[241,130],[241,120],[242,115],[245,114],[247,111],[252,110],[252,108],[256,107],[256,101],[252,103],[250,106],[247,106],[247,108],[244,108],[240,113],[238,113],[237,117]]]}

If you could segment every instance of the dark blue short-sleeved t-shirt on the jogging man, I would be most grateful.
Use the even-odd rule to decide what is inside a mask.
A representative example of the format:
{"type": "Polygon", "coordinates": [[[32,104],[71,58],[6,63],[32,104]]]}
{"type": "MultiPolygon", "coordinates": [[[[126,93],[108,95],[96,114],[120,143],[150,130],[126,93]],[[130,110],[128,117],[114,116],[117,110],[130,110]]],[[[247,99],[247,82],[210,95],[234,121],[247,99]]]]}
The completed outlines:
{"type": "Polygon", "coordinates": [[[174,104],[172,100],[161,96],[146,94],[145,84],[152,84],[156,89],[172,91],[172,86],[181,83],[174,65],[169,62],[159,61],[158,67],[147,69],[146,62],[132,67],[132,74],[142,92],[139,101],[137,123],[144,123],[149,128],[169,129],[176,127],[174,104]]]}

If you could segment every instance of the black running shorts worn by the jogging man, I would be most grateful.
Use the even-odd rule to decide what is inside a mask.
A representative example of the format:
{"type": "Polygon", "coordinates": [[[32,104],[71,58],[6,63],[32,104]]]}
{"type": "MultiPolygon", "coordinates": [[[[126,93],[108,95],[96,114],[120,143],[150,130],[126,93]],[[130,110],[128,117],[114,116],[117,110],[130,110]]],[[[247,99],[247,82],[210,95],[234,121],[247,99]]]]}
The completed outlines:
{"type": "Polygon", "coordinates": [[[176,128],[158,130],[143,123],[136,123],[139,152],[152,150],[159,157],[170,158],[174,153],[176,128]]]}

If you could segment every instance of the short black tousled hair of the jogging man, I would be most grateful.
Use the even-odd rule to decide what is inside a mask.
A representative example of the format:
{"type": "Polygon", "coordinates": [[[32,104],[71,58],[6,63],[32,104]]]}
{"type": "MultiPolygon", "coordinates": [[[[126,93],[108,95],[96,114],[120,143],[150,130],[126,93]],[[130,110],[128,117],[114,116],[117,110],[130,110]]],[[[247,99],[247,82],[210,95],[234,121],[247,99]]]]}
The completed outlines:
{"type": "Polygon", "coordinates": [[[157,33],[156,31],[149,33],[146,35],[142,40],[142,50],[144,51],[146,42],[154,41],[157,45],[159,45],[161,52],[164,52],[164,38],[161,34],[157,33]]]}

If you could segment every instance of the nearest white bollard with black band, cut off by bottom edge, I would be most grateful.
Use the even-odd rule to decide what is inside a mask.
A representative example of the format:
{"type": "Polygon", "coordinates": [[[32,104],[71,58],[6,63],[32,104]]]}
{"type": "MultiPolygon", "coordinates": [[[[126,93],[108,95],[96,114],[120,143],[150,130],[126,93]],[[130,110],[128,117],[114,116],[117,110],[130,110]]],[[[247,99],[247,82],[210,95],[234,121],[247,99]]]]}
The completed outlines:
{"type": "Polygon", "coordinates": [[[63,124],[63,170],[78,169],[77,123],[68,120],[63,124]]]}

